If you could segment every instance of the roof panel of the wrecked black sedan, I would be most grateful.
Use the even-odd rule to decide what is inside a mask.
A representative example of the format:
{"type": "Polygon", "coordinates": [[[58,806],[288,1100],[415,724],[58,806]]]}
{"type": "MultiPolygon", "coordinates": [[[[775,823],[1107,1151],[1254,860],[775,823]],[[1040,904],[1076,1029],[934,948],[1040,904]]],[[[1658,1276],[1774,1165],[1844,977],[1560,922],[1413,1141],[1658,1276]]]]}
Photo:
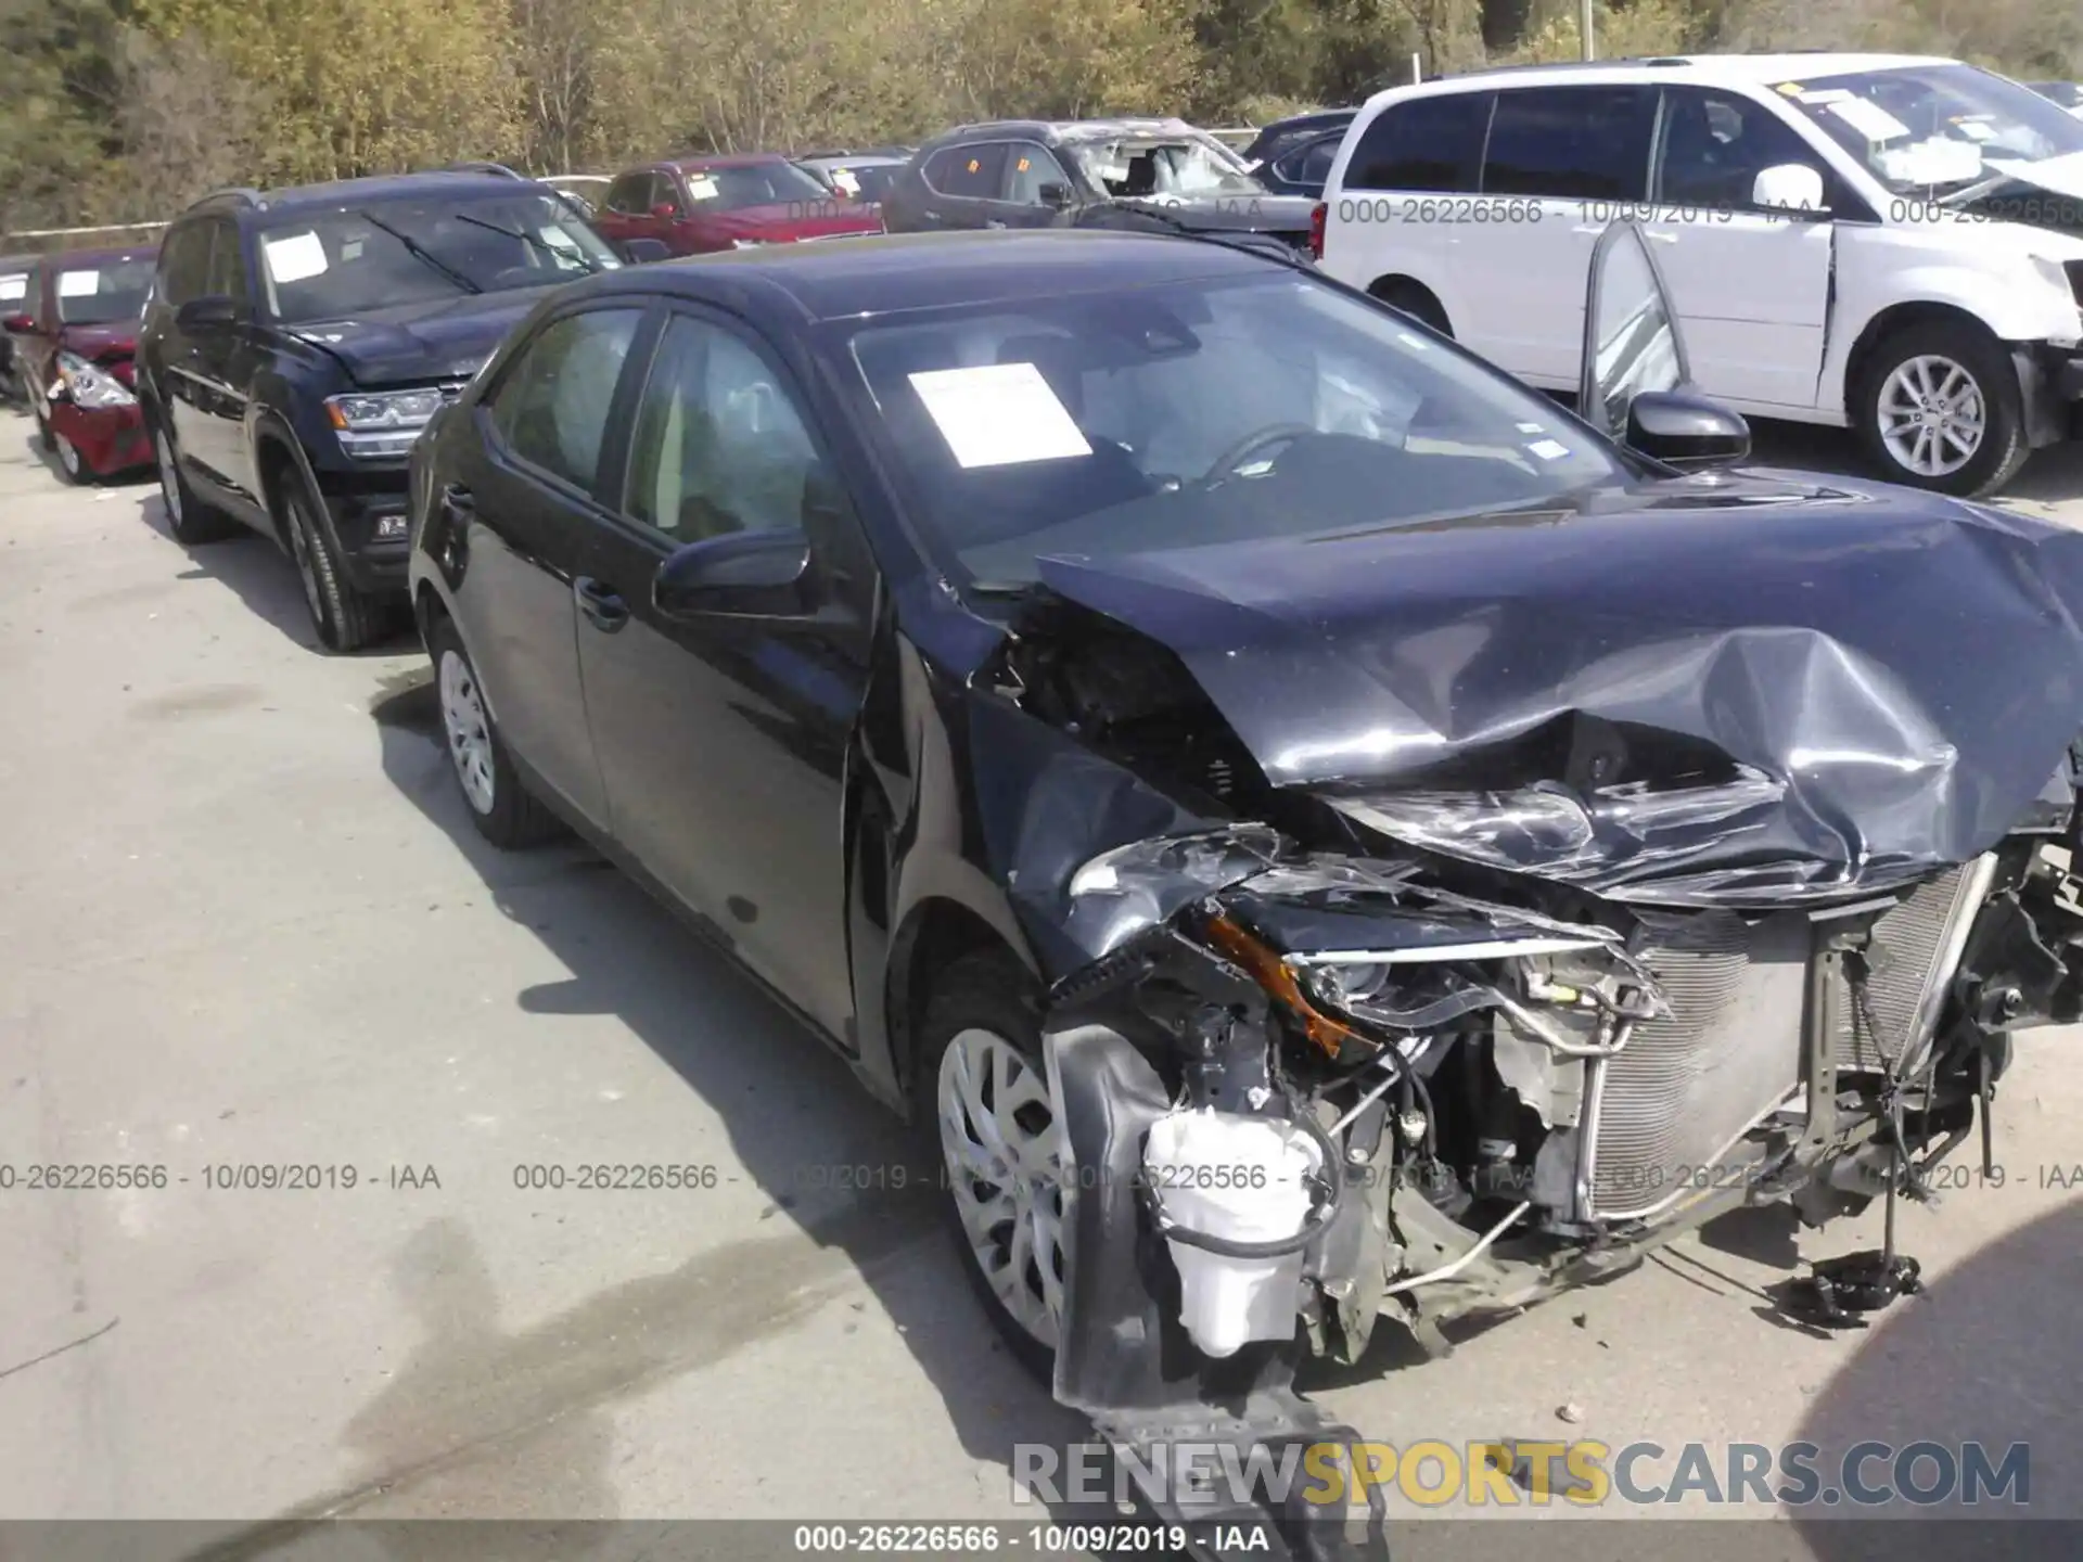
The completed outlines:
{"type": "Polygon", "coordinates": [[[767,244],[621,267],[573,287],[733,298],[798,321],[831,321],[1275,269],[1279,260],[1227,244],[1156,233],[983,229],[767,244]]]}

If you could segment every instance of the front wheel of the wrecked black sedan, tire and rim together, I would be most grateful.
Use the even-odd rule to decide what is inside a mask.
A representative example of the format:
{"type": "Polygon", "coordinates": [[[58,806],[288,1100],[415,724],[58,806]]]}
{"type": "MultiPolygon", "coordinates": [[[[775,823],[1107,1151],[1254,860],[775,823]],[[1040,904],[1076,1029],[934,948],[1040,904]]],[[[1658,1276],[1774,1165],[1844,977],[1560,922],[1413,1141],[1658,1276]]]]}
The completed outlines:
{"type": "Polygon", "coordinates": [[[939,975],[914,1054],[912,1120],[939,1173],[962,1273],[1014,1360],[1048,1383],[1066,1168],[1033,979],[1010,956],[969,956],[939,975]]]}

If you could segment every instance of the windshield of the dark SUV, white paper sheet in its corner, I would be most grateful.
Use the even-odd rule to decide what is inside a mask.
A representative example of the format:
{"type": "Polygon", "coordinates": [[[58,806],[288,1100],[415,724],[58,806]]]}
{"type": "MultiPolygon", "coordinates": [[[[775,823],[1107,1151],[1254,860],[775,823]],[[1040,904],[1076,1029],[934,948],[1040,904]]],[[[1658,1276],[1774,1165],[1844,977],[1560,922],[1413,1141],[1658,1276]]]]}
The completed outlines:
{"type": "Polygon", "coordinates": [[[262,229],[269,310],[285,323],[583,277],[614,252],[554,196],[385,200],[262,229]],[[415,254],[419,250],[419,254],[415,254]]]}

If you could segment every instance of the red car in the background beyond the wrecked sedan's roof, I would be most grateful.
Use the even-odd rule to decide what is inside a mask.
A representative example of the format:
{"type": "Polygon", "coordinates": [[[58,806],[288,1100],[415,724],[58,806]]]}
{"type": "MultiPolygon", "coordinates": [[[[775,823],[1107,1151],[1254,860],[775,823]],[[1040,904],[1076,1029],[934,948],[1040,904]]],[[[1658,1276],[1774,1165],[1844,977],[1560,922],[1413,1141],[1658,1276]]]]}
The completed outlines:
{"type": "Polygon", "coordinates": [[[656,240],[671,254],[881,233],[881,206],[846,200],[783,156],[652,162],[614,177],[594,225],[617,248],[656,240]]]}

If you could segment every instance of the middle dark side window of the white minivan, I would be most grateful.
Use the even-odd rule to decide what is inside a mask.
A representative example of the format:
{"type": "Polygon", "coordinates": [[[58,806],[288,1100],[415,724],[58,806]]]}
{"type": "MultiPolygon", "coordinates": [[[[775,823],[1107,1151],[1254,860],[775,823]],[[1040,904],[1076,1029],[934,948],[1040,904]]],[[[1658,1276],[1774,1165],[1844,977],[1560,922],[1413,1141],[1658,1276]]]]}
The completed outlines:
{"type": "Polygon", "coordinates": [[[1498,94],[1485,196],[1648,200],[1656,87],[1523,87],[1498,94]]]}

